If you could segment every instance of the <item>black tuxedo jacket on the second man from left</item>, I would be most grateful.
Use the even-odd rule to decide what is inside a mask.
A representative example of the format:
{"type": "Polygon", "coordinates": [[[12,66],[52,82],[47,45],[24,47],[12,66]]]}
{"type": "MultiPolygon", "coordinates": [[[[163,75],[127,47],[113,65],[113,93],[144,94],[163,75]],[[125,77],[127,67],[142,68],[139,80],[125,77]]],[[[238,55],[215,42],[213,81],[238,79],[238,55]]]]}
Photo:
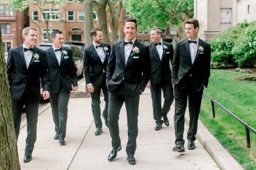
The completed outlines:
{"type": "Polygon", "coordinates": [[[77,86],[76,67],[74,66],[72,51],[62,47],[60,65],[52,47],[46,50],[46,57],[49,69],[50,93],[59,93],[60,88],[63,88],[66,92],[72,91],[72,85],[77,86]],[[63,51],[66,51],[67,55],[63,51]]]}

